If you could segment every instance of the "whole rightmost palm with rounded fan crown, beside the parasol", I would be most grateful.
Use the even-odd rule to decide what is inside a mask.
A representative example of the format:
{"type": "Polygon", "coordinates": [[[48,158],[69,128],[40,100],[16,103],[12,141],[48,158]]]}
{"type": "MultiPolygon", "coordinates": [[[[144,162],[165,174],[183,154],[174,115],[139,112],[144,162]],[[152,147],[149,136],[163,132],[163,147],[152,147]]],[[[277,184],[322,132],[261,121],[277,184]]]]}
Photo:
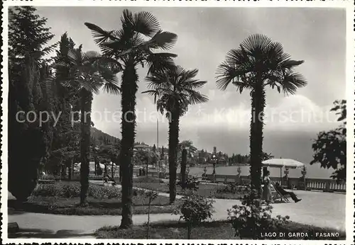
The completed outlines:
{"type": "Polygon", "coordinates": [[[286,95],[294,94],[307,84],[294,68],[303,61],[290,59],[283,45],[265,35],[251,35],[239,48],[230,50],[217,69],[217,87],[225,90],[233,84],[241,93],[251,91],[251,178],[252,187],[261,192],[261,161],[263,156],[263,111],[267,86],[286,95]]]}

